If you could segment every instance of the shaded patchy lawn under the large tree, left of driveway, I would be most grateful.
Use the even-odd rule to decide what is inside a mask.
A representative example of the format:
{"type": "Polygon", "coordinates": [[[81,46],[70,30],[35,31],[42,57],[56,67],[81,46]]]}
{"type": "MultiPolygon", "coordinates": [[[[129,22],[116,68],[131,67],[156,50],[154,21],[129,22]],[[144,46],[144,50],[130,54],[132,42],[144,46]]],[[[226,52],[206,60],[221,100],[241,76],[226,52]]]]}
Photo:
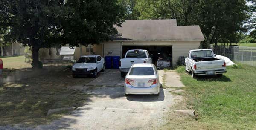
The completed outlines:
{"type": "Polygon", "coordinates": [[[67,111],[47,116],[54,108],[79,107],[88,101],[81,90],[71,86],[85,85],[94,78],[73,78],[70,66],[44,66],[32,70],[23,56],[2,58],[0,78],[0,126],[47,124],[67,111]]]}

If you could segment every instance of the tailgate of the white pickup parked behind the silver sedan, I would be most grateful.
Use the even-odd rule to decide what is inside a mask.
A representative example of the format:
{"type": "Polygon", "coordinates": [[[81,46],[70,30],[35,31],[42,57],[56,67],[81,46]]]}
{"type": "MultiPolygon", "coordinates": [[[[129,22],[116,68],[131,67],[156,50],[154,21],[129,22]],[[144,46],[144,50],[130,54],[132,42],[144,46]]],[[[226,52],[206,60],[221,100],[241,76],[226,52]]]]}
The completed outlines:
{"type": "Polygon", "coordinates": [[[121,61],[120,68],[130,68],[132,64],[144,63],[145,58],[125,58],[125,59],[121,59],[120,61],[121,61]]]}

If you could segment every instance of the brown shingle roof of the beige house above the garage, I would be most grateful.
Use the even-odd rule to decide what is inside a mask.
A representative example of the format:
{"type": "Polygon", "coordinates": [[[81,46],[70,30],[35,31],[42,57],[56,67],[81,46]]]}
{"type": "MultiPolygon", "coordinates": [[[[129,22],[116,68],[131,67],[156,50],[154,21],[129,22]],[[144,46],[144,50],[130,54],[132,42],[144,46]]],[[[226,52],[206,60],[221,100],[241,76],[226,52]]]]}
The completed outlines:
{"type": "Polygon", "coordinates": [[[199,26],[177,26],[176,20],[125,20],[115,27],[119,35],[112,40],[204,40],[199,26]]]}

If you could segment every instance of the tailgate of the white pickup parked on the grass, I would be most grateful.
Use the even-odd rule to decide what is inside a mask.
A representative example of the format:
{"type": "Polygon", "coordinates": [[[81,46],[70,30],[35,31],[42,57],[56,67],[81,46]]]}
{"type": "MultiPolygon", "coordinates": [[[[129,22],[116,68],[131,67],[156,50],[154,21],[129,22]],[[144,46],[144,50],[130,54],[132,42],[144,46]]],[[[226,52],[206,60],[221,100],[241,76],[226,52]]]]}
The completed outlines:
{"type": "Polygon", "coordinates": [[[224,65],[224,60],[196,62],[196,69],[218,69],[224,65]]]}

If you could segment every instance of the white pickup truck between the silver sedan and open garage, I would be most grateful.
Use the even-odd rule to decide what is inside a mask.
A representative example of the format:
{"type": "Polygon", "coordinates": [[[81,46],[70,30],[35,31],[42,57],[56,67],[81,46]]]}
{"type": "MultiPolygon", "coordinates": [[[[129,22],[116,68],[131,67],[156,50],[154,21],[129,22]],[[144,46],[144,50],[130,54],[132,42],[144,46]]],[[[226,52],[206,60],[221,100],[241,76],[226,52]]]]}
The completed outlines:
{"type": "Polygon", "coordinates": [[[120,59],[119,69],[121,71],[121,77],[125,77],[132,64],[135,63],[152,63],[152,59],[147,50],[128,50],[125,54],[125,58],[120,59]]]}

